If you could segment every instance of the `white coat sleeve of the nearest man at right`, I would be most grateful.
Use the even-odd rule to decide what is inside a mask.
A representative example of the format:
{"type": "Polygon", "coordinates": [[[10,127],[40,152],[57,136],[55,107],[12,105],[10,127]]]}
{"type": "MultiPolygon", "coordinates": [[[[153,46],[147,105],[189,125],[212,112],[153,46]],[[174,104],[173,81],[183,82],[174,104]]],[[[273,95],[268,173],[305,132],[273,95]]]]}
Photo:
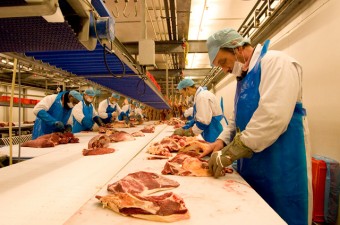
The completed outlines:
{"type": "Polygon", "coordinates": [[[301,89],[301,67],[278,51],[261,61],[260,100],[241,141],[255,152],[272,145],[287,130],[301,89]]]}

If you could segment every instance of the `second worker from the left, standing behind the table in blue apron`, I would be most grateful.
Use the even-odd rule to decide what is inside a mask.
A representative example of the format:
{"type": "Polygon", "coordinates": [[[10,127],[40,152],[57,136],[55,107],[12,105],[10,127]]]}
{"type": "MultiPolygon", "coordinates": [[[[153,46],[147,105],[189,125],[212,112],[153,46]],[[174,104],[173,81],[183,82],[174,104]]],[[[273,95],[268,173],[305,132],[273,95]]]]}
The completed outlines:
{"type": "Polygon", "coordinates": [[[73,127],[72,133],[78,133],[80,131],[91,131],[94,123],[98,126],[104,126],[105,124],[100,119],[97,111],[93,107],[93,100],[95,92],[92,89],[87,89],[84,92],[83,101],[79,102],[72,110],[73,115],[73,127]]]}

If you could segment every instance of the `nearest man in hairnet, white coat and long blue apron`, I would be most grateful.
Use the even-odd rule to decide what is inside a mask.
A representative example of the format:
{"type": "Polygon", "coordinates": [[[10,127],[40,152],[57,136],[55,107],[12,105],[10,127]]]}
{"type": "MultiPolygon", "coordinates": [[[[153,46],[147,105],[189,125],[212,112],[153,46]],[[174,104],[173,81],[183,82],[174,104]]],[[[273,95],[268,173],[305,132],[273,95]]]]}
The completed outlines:
{"type": "Polygon", "coordinates": [[[229,28],[208,38],[211,64],[234,74],[237,89],[234,118],[201,157],[216,151],[209,160],[215,177],[238,160],[240,175],[289,225],[309,225],[311,157],[302,68],[268,45],[254,48],[229,28]]]}

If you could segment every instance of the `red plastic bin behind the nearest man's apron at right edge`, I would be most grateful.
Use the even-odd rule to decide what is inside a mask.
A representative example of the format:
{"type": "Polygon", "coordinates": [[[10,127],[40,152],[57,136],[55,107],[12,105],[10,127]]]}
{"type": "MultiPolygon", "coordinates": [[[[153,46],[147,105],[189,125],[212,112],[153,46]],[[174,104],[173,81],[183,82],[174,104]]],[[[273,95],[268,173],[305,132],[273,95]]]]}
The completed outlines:
{"type": "Polygon", "coordinates": [[[323,160],[312,158],[313,215],[314,222],[325,222],[325,181],[327,166],[323,160]]]}

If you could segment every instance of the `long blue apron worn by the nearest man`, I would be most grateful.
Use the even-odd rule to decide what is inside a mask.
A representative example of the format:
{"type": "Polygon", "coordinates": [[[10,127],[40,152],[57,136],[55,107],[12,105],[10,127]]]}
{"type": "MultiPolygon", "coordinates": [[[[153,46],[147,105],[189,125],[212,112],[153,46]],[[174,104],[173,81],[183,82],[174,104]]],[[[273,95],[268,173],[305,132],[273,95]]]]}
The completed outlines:
{"type": "MultiPolygon", "coordinates": [[[[269,41],[266,41],[255,67],[237,83],[235,121],[241,131],[246,128],[258,107],[260,62],[268,45],[269,41]]],[[[308,224],[304,115],[302,104],[297,103],[287,130],[276,142],[263,151],[254,153],[252,158],[240,159],[237,163],[241,176],[289,225],[308,224]]]]}

